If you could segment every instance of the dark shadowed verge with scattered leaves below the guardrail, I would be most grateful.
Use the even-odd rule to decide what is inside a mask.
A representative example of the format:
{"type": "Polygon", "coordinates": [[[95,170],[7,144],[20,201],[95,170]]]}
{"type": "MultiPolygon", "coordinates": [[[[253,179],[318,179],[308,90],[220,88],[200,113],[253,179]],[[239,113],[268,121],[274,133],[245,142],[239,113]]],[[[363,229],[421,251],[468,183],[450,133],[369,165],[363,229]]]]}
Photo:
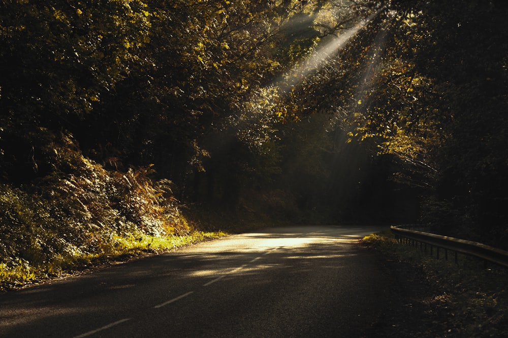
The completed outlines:
{"type": "Polygon", "coordinates": [[[437,260],[398,243],[391,232],[362,242],[383,257],[396,279],[380,336],[502,337],[508,334],[508,270],[459,254],[437,260]]]}

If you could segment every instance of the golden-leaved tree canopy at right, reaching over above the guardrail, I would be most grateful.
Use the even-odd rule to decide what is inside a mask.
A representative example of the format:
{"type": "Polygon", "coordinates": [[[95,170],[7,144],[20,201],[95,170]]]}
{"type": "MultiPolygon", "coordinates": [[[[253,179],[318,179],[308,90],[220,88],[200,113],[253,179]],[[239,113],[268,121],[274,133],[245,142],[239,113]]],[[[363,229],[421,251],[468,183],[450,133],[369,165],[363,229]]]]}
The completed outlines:
{"type": "MultiPolygon", "coordinates": [[[[281,109],[333,114],[347,141],[387,155],[393,164],[383,170],[422,196],[423,217],[444,216],[433,219],[441,232],[502,245],[506,6],[392,1],[367,8],[375,15],[365,27],[339,30],[350,43],[295,84],[281,109]]],[[[328,16],[328,26],[339,18],[328,16]]]]}

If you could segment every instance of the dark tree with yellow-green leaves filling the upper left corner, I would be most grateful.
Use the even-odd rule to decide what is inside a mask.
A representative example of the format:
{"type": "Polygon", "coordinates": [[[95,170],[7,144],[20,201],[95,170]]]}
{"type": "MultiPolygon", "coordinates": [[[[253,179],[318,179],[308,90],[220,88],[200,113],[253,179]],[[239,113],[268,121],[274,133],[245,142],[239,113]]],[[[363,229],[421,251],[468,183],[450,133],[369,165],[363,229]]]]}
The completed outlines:
{"type": "Polygon", "coordinates": [[[2,2],[0,12],[2,170],[29,179],[34,174],[22,175],[44,162],[40,138],[48,130],[79,129],[79,118],[139,61],[149,13],[137,0],[19,0],[2,2]]]}

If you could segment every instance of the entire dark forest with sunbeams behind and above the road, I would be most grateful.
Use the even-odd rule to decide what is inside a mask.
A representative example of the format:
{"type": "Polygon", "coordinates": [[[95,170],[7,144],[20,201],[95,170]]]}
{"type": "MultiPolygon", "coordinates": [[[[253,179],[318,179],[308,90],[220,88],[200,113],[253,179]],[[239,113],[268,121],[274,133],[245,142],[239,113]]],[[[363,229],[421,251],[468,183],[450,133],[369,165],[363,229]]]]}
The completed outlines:
{"type": "Polygon", "coordinates": [[[0,1],[0,270],[270,222],[426,223],[508,249],[507,14],[0,1]]]}

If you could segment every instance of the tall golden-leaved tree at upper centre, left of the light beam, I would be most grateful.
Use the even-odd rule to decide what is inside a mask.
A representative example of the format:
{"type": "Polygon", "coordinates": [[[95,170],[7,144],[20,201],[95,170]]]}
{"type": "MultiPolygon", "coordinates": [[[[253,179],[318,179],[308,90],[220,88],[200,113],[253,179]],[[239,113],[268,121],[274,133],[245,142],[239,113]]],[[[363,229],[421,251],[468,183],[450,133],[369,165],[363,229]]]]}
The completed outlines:
{"type": "Polygon", "coordinates": [[[267,84],[287,68],[288,50],[304,44],[289,29],[307,10],[300,2],[165,1],[147,11],[150,41],[139,54],[147,62],[86,118],[87,130],[100,137],[80,133],[78,139],[105,163],[114,157],[154,163],[192,195],[199,172],[231,177],[226,166],[244,166],[249,152],[259,154],[273,140],[277,94],[267,84]]]}

